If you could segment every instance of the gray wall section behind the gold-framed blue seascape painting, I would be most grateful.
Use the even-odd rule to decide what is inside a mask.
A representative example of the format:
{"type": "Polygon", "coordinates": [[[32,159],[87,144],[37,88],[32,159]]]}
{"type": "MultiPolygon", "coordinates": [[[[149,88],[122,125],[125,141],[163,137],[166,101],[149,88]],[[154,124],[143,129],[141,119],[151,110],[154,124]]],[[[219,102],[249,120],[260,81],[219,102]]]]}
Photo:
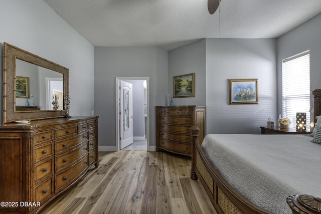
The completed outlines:
{"type": "Polygon", "coordinates": [[[260,133],[276,118],[276,40],[206,39],[207,133],[260,133]],[[258,104],[229,105],[228,79],[258,79],[258,104]]]}

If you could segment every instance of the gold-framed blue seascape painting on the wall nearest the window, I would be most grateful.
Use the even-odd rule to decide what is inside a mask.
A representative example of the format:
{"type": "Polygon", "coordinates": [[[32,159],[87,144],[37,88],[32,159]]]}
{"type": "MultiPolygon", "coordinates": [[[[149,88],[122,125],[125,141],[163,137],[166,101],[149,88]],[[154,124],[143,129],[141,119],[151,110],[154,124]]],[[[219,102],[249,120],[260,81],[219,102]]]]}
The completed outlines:
{"type": "Polygon", "coordinates": [[[229,79],[229,104],[258,104],[258,79],[229,79]]]}

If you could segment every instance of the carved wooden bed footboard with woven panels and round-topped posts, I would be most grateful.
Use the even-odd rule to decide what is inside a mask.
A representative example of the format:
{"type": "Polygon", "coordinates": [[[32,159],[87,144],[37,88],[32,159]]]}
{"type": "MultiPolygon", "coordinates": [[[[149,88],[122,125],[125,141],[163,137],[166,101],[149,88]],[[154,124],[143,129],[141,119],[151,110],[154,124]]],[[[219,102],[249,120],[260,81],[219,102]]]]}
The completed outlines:
{"type": "MultiPolygon", "coordinates": [[[[191,178],[193,180],[198,178],[201,180],[216,211],[219,214],[272,213],[247,200],[226,182],[205,156],[198,140],[199,128],[194,126],[190,130],[193,137],[191,178]]],[[[289,204],[293,214],[321,213],[321,198],[309,195],[295,195],[284,198],[284,200],[289,204]]]]}

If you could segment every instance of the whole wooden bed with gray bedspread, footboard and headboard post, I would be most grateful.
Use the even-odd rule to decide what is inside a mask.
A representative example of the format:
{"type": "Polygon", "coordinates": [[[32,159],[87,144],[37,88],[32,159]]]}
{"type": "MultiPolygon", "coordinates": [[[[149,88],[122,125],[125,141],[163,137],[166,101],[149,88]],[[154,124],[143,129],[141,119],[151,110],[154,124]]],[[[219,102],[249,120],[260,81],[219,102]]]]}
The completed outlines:
{"type": "MultiPolygon", "coordinates": [[[[321,89],[312,94],[314,115],[321,115],[321,89]]],[[[321,213],[321,144],[311,142],[316,138],[209,134],[199,142],[198,128],[191,132],[191,178],[201,180],[219,214],[321,213]]]]}

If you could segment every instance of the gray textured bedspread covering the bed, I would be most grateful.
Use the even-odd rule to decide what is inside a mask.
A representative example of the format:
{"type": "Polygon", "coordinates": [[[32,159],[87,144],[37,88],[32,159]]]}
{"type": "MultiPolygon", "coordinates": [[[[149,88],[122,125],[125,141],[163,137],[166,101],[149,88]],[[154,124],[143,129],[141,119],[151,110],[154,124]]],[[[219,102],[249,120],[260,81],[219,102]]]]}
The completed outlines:
{"type": "Polygon", "coordinates": [[[243,196],[274,213],[292,213],[286,197],[321,196],[321,144],[305,135],[209,134],[202,148],[243,196]]]}

